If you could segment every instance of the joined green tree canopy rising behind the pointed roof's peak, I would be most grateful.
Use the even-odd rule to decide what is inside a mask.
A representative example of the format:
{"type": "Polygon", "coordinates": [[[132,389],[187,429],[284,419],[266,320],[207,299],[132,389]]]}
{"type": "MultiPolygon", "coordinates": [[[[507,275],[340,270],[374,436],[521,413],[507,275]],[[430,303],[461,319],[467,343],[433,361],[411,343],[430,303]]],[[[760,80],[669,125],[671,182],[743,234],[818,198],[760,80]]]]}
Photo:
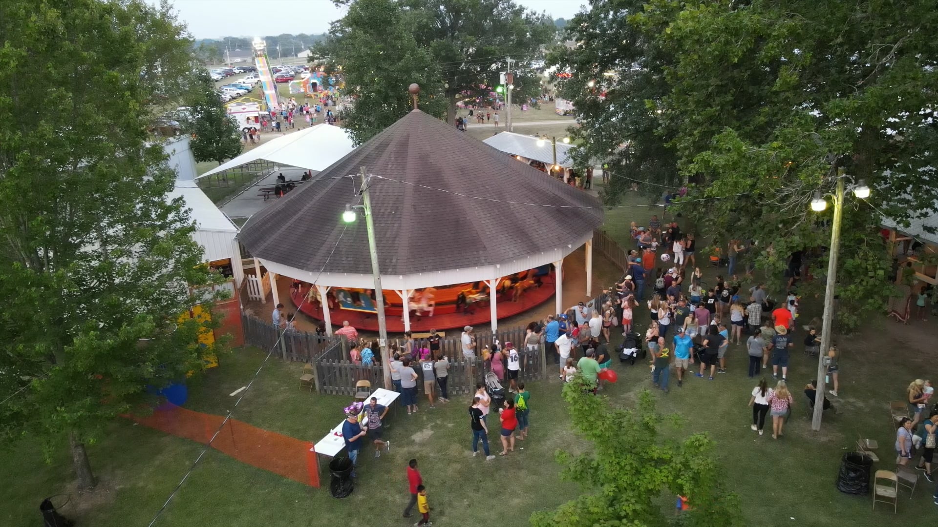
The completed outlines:
{"type": "Polygon", "coordinates": [[[411,83],[421,86],[421,110],[446,115],[450,123],[457,102],[489,97],[508,58],[519,72],[518,93],[539,92],[539,81],[524,72],[540,47],[552,41],[555,27],[546,15],[511,0],[338,3],[347,5],[348,13],[313,46],[310,60],[342,67],[356,106],[344,123],[359,143],[407,112],[411,83]]]}

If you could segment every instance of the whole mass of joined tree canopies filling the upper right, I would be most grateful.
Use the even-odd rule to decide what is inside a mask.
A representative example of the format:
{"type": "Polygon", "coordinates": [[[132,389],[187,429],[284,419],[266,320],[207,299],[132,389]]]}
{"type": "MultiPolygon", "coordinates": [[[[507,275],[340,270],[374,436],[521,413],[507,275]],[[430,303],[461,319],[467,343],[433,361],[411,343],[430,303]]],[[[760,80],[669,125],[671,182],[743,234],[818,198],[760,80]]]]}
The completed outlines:
{"type": "Polygon", "coordinates": [[[588,148],[625,176],[607,200],[627,178],[657,196],[689,183],[681,210],[699,232],[758,240],[750,257],[772,277],[808,251],[818,276],[832,207],[808,205],[844,168],[872,195],[844,210],[840,323],[885,306],[879,222],[933,214],[938,197],[932,4],[615,0],[567,27],[582,46],[555,55],[573,73],[562,90],[588,148]]]}

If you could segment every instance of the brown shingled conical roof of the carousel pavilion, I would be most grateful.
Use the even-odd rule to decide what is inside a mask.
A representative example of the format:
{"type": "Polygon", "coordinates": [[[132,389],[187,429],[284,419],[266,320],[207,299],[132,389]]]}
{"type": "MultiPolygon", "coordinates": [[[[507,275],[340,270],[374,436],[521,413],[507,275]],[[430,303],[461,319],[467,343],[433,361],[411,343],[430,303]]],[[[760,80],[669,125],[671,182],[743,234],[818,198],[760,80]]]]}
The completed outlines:
{"type": "MultiPolygon", "coordinates": [[[[354,191],[362,166],[375,175],[501,201],[599,204],[413,111],[250,218],[239,239],[252,255],[278,264],[371,274],[364,218],[347,224],[343,235],[340,218],[346,203],[359,203],[354,191]],[[329,179],[349,174],[356,174],[354,186],[352,178],[329,179]]],[[[598,208],[494,203],[378,178],[371,179],[371,207],[382,275],[505,264],[582,240],[602,223],[598,208]]]]}

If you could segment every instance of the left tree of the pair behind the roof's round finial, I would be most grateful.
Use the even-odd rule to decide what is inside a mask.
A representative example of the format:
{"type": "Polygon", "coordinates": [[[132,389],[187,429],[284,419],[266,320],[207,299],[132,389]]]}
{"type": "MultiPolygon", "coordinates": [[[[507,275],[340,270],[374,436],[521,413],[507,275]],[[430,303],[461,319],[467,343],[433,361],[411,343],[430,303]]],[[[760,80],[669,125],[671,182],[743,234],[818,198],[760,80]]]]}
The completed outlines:
{"type": "Polygon", "coordinates": [[[356,144],[394,124],[413,108],[407,92],[420,85],[419,108],[446,113],[440,69],[414,38],[413,27],[395,0],[356,0],[332,24],[329,37],[313,46],[310,61],[325,60],[328,73],[341,71],[345,91],[355,98],[343,115],[356,144]]]}

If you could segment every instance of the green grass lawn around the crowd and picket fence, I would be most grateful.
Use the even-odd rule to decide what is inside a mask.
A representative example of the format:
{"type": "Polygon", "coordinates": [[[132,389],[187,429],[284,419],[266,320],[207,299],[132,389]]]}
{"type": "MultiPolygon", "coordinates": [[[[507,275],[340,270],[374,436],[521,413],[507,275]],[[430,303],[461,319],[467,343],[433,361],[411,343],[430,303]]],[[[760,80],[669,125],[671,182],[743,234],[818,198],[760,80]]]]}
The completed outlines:
{"type": "MultiPolygon", "coordinates": [[[[630,195],[626,203],[648,203],[630,195]]],[[[640,224],[660,210],[650,207],[620,208],[607,213],[607,230],[625,239],[628,222],[640,224]]],[[[701,265],[705,279],[718,270],[701,265]]],[[[725,272],[725,268],[719,271],[725,272]]],[[[747,287],[749,284],[747,284],[747,287]]],[[[644,329],[644,309],[636,322],[644,329]]],[[[817,299],[804,299],[807,321],[819,314],[817,299]]],[[[930,324],[934,324],[933,321],[930,324]]],[[[727,486],[741,498],[746,525],[753,526],[883,526],[929,518],[934,505],[934,485],[924,479],[915,489],[900,491],[899,516],[888,508],[870,512],[869,496],[851,496],[835,488],[840,458],[853,449],[858,435],[879,442],[882,459],[874,468],[893,469],[888,401],[903,399],[904,388],[918,377],[927,377],[934,362],[933,331],[927,325],[904,326],[875,319],[862,333],[839,336],[842,352],[840,397],[834,398],[839,414],[825,414],[821,432],[809,429],[804,384],[814,377],[816,362],[800,352],[800,337],[792,353],[790,386],[795,407],[785,435],[776,441],[749,429],[747,406],[755,384],[747,378],[747,357],[742,346],[731,346],[726,374],[714,381],[688,377],[683,387],[675,384],[668,395],[656,392],[658,410],[684,416],[677,432],[703,431],[716,441],[714,455],[721,461],[727,486]]],[[[228,396],[247,384],[264,354],[254,349],[236,350],[221,357],[218,369],[189,383],[193,410],[225,414],[234,398],[228,396]]],[[[650,387],[647,365],[615,363],[617,384],[602,393],[613,404],[633,404],[638,393],[650,387]]],[[[297,390],[302,365],[272,357],[236,410],[236,418],[305,441],[316,441],[342,418],[340,409],[350,401],[297,390]]],[[[768,370],[763,370],[764,372],[768,370]]],[[[407,501],[404,467],[408,459],[420,461],[421,472],[434,507],[433,519],[447,525],[525,525],[532,511],[552,508],[576,495],[579,489],[558,479],[560,468],[552,460],[558,448],[588,449],[570,431],[560,384],[555,380],[531,383],[531,438],[525,448],[507,458],[474,459],[470,454],[467,401],[454,398],[435,410],[421,404],[412,416],[389,416],[391,451],[372,459],[363,451],[355,493],[333,499],[327,489],[311,489],[276,474],[245,465],[209,449],[185,485],[176,494],[157,525],[332,525],[354,521],[364,526],[407,525],[400,518],[407,501]]],[[[767,425],[770,429],[770,425],[767,425]]],[[[497,441],[497,439],[496,439],[497,441]]],[[[496,444],[493,449],[498,448],[496,444]]],[[[628,444],[621,445],[623,452],[628,444]]],[[[49,464],[41,449],[28,438],[0,451],[0,486],[6,489],[7,506],[0,507],[0,525],[38,526],[38,503],[57,493],[72,494],[65,513],[83,525],[124,527],[146,525],[169,496],[202,445],[168,436],[153,429],[118,420],[98,444],[89,446],[94,470],[101,480],[98,491],[79,497],[71,484],[65,444],[53,449],[49,464]]],[[[668,497],[662,502],[670,503],[668,497]]]]}

